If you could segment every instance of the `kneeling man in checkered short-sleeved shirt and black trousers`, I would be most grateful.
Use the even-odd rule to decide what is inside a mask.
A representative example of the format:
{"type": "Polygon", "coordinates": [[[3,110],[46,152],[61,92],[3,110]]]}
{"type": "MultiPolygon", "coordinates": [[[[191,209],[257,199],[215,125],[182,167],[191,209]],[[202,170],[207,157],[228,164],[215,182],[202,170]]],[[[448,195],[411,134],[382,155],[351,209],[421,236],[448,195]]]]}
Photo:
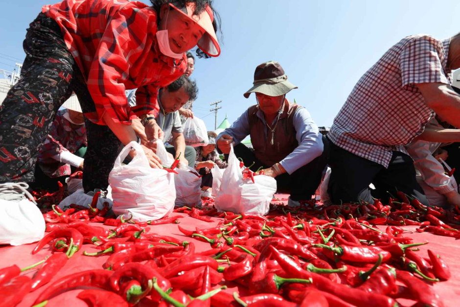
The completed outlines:
{"type": "Polygon", "coordinates": [[[428,204],[404,144],[430,139],[423,132],[435,113],[460,128],[460,95],[450,85],[459,67],[460,33],[445,40],[419,34],[391,47],[359,79],[327,135],[333,203],[386,201],[387,191],[399,190],[428,204]]]}

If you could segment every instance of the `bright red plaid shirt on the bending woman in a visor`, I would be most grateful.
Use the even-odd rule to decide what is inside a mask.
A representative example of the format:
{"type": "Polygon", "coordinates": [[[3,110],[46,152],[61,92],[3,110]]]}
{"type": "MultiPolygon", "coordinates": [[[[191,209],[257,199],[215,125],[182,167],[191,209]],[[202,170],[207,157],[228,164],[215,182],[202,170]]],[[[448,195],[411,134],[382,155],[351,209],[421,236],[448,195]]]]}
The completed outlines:
{"type": "Polygon", "coordinates": [[[136,115],[156,116],[158,90],[185,72],[185,54],[175,60],[159,51],[157,12],[142,2],[64,0],[45,5],[42,12],[61,26],[85,77],[95,104],[95,112],[85,116],[92,122],[104,124],[105,112],[126,124],[136,115]],[[125,90],[135,88],[137,106],[131,110],[125,90]]]}

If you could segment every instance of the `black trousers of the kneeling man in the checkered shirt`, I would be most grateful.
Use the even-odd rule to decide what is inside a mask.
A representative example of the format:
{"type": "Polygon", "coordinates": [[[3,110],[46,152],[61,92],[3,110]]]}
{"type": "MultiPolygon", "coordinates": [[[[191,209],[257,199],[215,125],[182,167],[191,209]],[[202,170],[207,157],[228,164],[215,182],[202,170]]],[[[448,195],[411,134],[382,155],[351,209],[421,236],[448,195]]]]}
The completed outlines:
{"type": "Polygon", "coordinates": [[[364,200],[373,203],[380,198],[387,203],[391,195],[402,191],[428,205],[423,189],[415,179],[414,161],[408,155],[393,151],[390,165],[385,168],[361,158],[327,140],[328,164],[331,167],[328,192],[334,204],[364,200]],[[375,190],[369,188],[369,184],[375,190]]]}

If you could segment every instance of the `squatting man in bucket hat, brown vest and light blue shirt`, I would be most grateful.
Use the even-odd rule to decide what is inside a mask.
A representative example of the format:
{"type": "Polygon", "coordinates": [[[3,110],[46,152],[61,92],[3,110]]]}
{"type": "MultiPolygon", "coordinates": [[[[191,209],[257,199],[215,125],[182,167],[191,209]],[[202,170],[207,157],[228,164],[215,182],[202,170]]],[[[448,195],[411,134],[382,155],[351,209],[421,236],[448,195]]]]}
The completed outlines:
{"type": "Polygon", "coordinates": [[[230,143],[246,166],[276,179],[278,191],[289,191],[289,206],[311,200],[321,182],[326,165],[322,135],[308,111],[291,103],[286,94],[295,85],[278,62],[265,62],[254,72],[253,87],[244,96],[255,93],[257,104],[245,111],[217,137],[217,146],[229,154],[230,143]],[[240,142],[251,136],[252,152],[240,142]]]}

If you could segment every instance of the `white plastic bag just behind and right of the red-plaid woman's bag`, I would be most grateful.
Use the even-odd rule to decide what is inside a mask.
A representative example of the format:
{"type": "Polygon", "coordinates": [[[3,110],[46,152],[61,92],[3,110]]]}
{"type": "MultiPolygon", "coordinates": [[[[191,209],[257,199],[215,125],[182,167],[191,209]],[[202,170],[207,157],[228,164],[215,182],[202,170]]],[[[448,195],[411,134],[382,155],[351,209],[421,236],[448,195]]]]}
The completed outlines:
{"type": "MultiPolygon", "coordinates": [[[[161,159],[163,165],[171,166],[174,161],[168,157],[168,152],[164,148],[161,140],[157,141],[157,156],[161,159]]],[[[197,171],[188,165],[182,165],[175,168],[178,174],[174,177],[176,187],[176,206],[201,205],[201,177],[198,177],[197,171]]]]}

